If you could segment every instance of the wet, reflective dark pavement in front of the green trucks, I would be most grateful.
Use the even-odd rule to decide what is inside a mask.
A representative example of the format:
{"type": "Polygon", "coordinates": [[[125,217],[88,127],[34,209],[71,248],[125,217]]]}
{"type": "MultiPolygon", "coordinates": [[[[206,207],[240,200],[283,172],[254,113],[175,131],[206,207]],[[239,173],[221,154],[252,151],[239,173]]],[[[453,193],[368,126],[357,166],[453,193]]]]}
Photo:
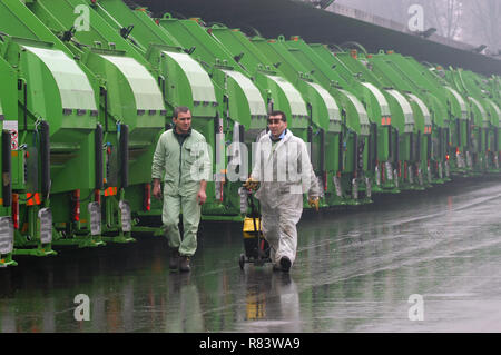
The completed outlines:
{"type": "Polygon", "coordinates": [[[308,214],[291,275],[242,272],[235,224],[204,225],[190,274],[151,236],[18,257],[0,270],[0,332],[500,332],[500,210],[501,184],[471,179],[308,214]]]}

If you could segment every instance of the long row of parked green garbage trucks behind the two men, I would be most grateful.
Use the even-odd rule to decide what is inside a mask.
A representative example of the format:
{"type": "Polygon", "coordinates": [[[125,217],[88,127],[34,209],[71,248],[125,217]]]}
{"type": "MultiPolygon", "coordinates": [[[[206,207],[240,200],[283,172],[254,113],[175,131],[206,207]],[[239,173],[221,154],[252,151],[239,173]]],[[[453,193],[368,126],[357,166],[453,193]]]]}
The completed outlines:
{"type": "Polygon", "coordinates": [[[235,147],[250,156],[272,110],[310,144],[321,208],[501,171],[498,76],[122,0],[0,1],[0,266],[161,234],[151,159],[177,106],[212,147],[204,220],[243,220],[235,147]]]}

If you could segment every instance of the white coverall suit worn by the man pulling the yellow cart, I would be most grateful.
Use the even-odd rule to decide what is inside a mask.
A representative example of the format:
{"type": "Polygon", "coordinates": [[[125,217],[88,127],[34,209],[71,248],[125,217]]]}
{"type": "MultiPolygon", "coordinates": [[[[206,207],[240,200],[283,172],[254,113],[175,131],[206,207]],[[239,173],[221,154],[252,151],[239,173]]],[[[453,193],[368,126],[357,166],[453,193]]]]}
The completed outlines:
{"type": "Polygon", "coordinates": [[[292,266],[303,194],[307,191],[312,198],[320,196],[306,144],[289,130],[277,142],[272,142],[271,134],[266,134],[257,144],[254,160],[250,178],[261,183],[256,198],[261,201],[262,229],[272,247],[272,262],[278,264],[285,256],[292,266]]]}

